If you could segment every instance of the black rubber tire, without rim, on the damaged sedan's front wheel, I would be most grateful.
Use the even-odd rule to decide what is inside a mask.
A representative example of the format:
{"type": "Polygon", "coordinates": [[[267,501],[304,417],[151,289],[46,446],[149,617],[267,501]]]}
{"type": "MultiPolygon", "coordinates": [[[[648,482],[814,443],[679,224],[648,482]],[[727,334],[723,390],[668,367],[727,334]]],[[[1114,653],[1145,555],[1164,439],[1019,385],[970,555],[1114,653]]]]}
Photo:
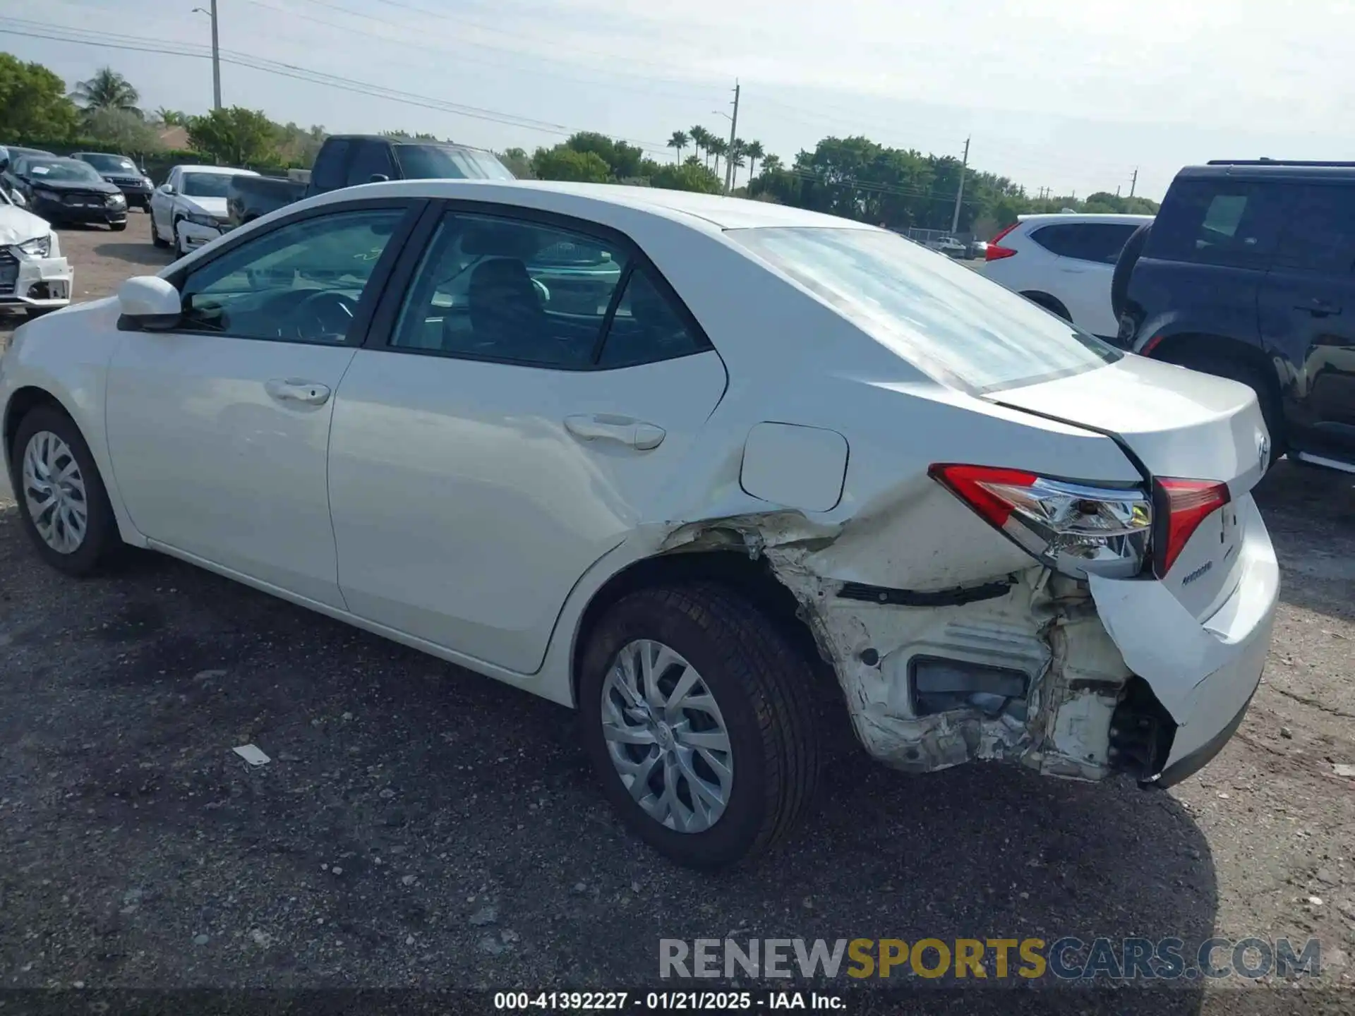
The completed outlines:
{"type": "Polygon", "coordinates": [[[117,555],[123,543],[118,534],[118,520],[112,513],[112,505],[108,504],[108,492],[104,489],[93,455],[89,454],[89,446],[85,444],[80,428],[69,416],[49,405],[31,409],[19,421],[14,447],[9,450],[9,462],[14,466],[11,481],[15,500],[19,503],[19,517],[23,519],[23,528],[38,549],[38,554],[49,565],[70,576],[87,576],[96,573],[102,565],[108,564],[117,555]],[[33,436],[42,431],[54,433],[65,442],[84,481],[88,524],[84,539],[69,554],[49,547],[38,535],[28,511],[28,499],[23,490],[23,454],[33,436]]]}

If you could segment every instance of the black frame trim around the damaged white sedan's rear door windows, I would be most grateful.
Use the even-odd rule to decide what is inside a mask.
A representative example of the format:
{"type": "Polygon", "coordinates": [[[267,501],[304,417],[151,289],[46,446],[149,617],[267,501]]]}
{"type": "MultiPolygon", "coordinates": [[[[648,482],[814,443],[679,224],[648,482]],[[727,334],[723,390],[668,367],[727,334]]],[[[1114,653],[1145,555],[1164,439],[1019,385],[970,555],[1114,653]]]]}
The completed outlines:
{"type": "Polygon", "coordinates": [[[394,266],[390,276],[385,280],[381,303],[377,306],[375,313],[367,322],[367,335],[362,343],[362,348],[404,354],[409,356],[438,356],[450,360],[477,360],[481,363],[503,363],[514,367],[533,367],[535,370],[557,370],[577,374],[587,371],[610,371],[626,370],[629,367],[642,367],[649,363],[663,363],[665,360],[682,359],[683,356],[695,356],[698,354],[710,352],[714,351],[715,347],[710,341],[710,336],[707,336],[706,331],[701,326],[701,322],[696,321],[696,316],[691,313],[687,303],[678,295],[672,283],[664,278],[664,274],[659,271],[659,267],[649,260],[644,251],[640,249],[640,244],[631,240],[622,230],[606,226],[600,222],[565,215],[558,211],[545,211],[542,209],[531,209],[522,205],[439,198],[428,202],[428,207],[424,209],[417,226],[406,238],[400,261],[394,266]],[[396,326],[400,322],[400,313],[405,305],[405,299],[413,290],[415,275],[423,264],[423,259],[432,244],[438,225],[442,222],[443,217],[449,214],[500,218],[509,222],[524,222],[535,226],[566,230],[569,233],[576,233],[585,240],[602,242],[614,251],[625,253],[626,267],[622,270],[621,278],[617,279],[617,287],[612,290],[611,299],[607,303],[607,313],[603,316],[602,326],[598,331],[598,340],[593,343],[592,356],[588,363],[541,363],[539,360],[519,360],[507,356],[491,356],[453,350],[423,350],[411,345],[392,344],[396,326]],[[683,326],[687,328],[692,336],[694,347],[687,352],[678,354],[676,356],[663,356],[653,360],[644,360],[642,363],[610,366],[599,363],[602,352],[607,345],[611,322],[615,318],[621,297],[625,293],[626,284],[630,282],[631,274],[637,268],[644,270],[649,275],[654,289],[659,290],[679,318],[682,318],[683,326]]]}

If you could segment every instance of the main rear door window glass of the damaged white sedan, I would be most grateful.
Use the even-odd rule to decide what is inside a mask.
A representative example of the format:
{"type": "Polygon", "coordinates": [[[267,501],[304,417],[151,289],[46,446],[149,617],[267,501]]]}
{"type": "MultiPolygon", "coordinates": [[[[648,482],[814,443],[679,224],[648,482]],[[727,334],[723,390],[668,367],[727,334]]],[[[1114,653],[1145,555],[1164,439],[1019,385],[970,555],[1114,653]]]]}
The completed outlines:
{"type": "Polygon", "coordinates": [[[449,213],[392,345],[542,367],[592,366],[627,259],[604,241],[522,219],[449,213]],[[562,249],[591,251],[561,261],[562,249]]]}

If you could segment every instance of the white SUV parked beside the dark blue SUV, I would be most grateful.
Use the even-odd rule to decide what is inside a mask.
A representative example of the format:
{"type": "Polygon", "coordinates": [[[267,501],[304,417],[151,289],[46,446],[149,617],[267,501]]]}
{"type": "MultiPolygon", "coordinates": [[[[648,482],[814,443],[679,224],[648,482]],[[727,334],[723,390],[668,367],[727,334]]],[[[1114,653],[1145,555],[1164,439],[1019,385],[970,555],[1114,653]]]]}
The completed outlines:
{"type": "Polygon", "coordinates": [[[1022,215],[988,244],[982,272],[1083,331],[1112,337],[1115,261],[1130,234],[1152,221],[1152,215],[1022,215]]]}

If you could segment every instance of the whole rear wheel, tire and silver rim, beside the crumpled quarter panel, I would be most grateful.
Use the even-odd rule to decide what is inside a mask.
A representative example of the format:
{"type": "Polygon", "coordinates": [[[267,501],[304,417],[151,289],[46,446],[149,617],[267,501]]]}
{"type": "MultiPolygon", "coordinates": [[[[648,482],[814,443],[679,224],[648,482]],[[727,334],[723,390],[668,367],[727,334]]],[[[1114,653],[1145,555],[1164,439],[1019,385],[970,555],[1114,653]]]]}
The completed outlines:
{"type": "Polygon", "coordinates": [[[813,672],[775,622],[715,584],[642,589],[588,638],[584,746],[625,824],[721,868],[795,825],[818,780],[813,672]]]}

